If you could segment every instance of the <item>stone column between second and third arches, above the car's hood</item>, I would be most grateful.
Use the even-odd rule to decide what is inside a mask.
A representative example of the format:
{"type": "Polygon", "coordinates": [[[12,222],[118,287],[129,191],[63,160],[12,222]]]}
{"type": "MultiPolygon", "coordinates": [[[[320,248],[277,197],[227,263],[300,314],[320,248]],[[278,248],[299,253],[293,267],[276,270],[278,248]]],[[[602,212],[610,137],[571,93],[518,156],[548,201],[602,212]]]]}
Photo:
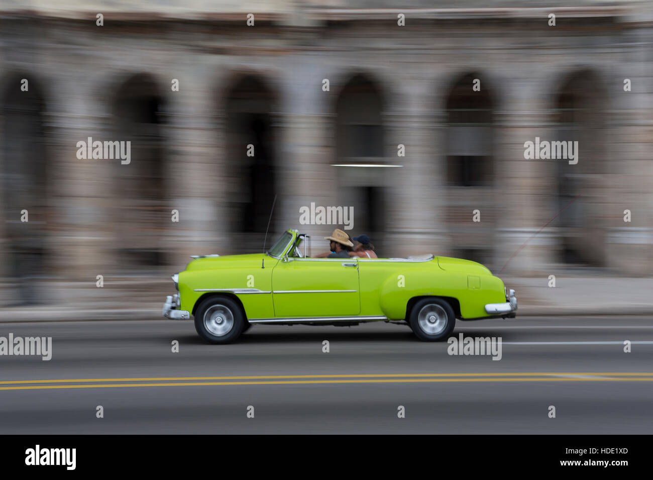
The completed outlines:
{"type": "MultiPolygon", "coordinates": [[[[206,65],[176,65],[180,90],[168,92],[167,198],[170,227],[166,232],[168,262],[178,270],[189,255],[231,253],[227,195],[225,112],[220,109],[221,85],[206,65]],[[185,74],[184,74],[185,72],[185,74]],[[178,210],[179,221],[172,221],[178,210]]],[[[170,88],[168,86],[168,88],[170,88]]]]}

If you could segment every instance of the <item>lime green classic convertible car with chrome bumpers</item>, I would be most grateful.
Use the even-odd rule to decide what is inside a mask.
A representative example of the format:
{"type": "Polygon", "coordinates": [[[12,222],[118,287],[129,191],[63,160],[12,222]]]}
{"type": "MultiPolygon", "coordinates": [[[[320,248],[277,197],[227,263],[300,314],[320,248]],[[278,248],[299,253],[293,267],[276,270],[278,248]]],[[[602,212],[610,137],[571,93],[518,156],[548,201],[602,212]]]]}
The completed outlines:
{"type": "Polygon", "coordinates": [[[259,323],[372,321],[407,323],[417,338],[434,341],[451,334],[456,318],[516,315],[515,291],[479,263],[434,255],[311,258],[308,241],[291,229],[265,253],[192,255],[186,270],[172,276],[178,293],[167,297],[163,315],[192,315],[210,344],[233,342],[259,323]]]}

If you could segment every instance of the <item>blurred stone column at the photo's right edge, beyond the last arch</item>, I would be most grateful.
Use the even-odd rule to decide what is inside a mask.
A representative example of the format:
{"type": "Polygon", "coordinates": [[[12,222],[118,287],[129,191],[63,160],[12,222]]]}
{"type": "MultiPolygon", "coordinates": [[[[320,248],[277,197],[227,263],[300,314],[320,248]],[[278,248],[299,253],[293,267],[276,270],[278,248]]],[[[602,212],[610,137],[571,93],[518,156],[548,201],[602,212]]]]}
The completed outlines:
{"type": "Polygon", "coordinates": [[[606,266],[622,274],[648,276],[653,264],[653,54],[649,48],[653,31],[643,22],[650,22],[653,14],[650,6],[639,9],[623,19],[634,25],[614,39],[619,53],[614,67],[606,71],[613,73],[608,77],[611,95],[606,105],[610,154],[604,161],[609,181],[605,179],[599,193],[607,229],[606,266]],[[635,26],[638,24],[641,26],[635,26]],[[624,91],[626,78],[631,91],[624,91]],[[624,221],[624,210],[630,211],[631,221],[624,221]]]}

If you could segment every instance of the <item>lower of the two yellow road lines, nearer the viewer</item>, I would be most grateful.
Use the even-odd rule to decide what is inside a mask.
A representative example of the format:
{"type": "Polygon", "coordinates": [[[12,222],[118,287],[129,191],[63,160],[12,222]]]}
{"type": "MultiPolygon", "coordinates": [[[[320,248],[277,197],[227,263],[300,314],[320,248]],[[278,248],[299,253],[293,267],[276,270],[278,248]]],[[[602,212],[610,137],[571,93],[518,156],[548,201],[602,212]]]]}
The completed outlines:
{"type": "Polygon", "coordinates": [[[435,382],[492,382],[492,381],[653,381],[653,377],[529,377],[529,378],[411,378],[411,379],[353,379],[353,380],[288,380],[288,381],[221,381],[183,383],[95,383],[93,385],[21,385],[0,387],[0,390],[46,390],[46,389],[96,389],[124,387],[193,387],[197,385],[306,385],[329,383],[435,383],[435,382]]]}

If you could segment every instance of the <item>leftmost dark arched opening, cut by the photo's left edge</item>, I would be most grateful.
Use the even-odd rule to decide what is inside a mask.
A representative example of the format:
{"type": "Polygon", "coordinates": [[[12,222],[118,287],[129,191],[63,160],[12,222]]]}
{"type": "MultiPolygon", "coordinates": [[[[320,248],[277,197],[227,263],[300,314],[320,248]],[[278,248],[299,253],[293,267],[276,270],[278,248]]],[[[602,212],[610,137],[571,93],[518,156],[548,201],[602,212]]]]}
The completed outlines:
{"type": "Polygon", "coordinates": [[[39,302],[34,280],[46,269],[50,165],[44,96],[34,81],[22,91],[21,80],[14,76],[7,82],[2,104],[4,270],[17,283],[16,301],[33,304],[39,302]]]}

